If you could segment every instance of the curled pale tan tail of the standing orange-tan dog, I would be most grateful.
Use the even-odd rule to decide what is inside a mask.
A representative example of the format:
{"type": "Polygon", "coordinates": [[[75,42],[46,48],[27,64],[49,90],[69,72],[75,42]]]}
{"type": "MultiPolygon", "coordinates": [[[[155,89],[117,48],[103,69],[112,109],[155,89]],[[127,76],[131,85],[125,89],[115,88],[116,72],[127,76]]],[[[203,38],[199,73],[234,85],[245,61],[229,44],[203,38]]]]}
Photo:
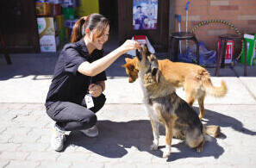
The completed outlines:
{"type": "Polygon", "coordinates": [[[227,94],[228,88],[224,81],[222,81],[221,86],[219,86],[219,87],[214,86],[211,83],[209,72],[207,72],[206,70],[203,70],[203,72],[201,72],[201,77],[202,77],[202,81],[203,81],[203,87],[204,87],[206,93],[208,93],[209,95],[216,96],[216,97],[222,97],[227,94]]]}

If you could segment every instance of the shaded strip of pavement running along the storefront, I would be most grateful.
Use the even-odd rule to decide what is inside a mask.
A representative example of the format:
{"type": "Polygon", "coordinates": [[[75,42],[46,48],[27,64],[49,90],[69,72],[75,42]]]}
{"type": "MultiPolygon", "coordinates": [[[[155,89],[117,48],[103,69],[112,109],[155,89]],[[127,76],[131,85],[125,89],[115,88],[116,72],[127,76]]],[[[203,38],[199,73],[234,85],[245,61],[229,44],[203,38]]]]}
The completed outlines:
{"type": "MultiPolygon", "coordinates": [[[[113,48],[115,49],[115,48],[113,48]]],[[[111,52],[107,50],[107,54],[111,52]]],[[[168,59],[167,53],[156,53],[159,59],[168,59]]],[[[2,55],[1,55],[2,56],[2,55]]],[[[5,60],[0,59],[0,81],[8,80],[9,78],[26,78],[30,75],[34,76],[34,80],[43,80],[52,78],[53,71],[59,52],[57,53],[19,53],[10,54],[12,65],[7,65],[5,60]],[[39,76],[46,76],[44,78],[39,76]]],[[[128,77],[122,65],[125,64],[125,58],[132,58],[131,55],[124,54],[109,66],[106,74],[109,78],[128,77]]],[[[214,76],[215,68],[207,68],[211,76],[214,76]]],[[[247,66],[247,76],[255,77],[255,66],[247,66]]],[[[243,76],[243,66],[236,65],[235,68],[228,68],[220,70],[220,77],[236,77],[243,76]]]]}

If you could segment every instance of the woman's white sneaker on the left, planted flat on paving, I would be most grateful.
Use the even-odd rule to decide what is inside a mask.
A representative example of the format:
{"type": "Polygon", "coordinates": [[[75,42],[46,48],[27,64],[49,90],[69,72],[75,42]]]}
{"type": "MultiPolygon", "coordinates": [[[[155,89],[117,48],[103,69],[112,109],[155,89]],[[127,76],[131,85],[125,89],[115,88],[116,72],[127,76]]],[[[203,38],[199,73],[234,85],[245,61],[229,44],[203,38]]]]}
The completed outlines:
{"type": "Polygon", "coordinates": [[[64,146],[65,131],[60,130],[56,124],[53,126],[53,135],[51,140],[51,146],[55,151],[61,151],[64,146]]]}

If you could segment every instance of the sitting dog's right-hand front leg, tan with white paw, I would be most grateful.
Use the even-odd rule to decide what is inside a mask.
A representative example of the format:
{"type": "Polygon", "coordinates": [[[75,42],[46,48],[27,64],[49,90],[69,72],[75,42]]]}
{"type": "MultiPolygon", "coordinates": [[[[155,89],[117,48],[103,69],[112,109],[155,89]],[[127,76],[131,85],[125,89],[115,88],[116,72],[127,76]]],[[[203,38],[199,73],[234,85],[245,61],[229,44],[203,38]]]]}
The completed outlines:
{"type": "Polygon", "coordinates": [[[163,153],[163,158],[168,158],[172,152],[172,121],[165,123],[165,149],[163,153]]]}

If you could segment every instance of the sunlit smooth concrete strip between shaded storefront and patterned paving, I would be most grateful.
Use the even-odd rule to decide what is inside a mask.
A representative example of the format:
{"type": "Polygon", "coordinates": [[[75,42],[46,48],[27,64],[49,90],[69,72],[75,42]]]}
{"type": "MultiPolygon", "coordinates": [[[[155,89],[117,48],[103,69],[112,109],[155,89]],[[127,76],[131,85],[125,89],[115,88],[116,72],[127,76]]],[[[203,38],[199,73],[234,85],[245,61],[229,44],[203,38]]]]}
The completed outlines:
{"type": "MultiPolygon", "coordinates": [[[[0,103],[44,103],[47,90],[51,83],[50,76],[28,76],[26,78],[10,78],[0,82],[0,103]],[[10,92],[12,94],[10,94],[10,92]]],[[[255,104],[256,78],[212,77],[215,86],[224,80],[228,85],[228,94],[223,98],[207,96],[205,104],[255,104]],[[254,97],[253,97],[254,95],[254,97]]],[[[106,81],[106,103],[142,103],[140,82],[128,83],[128,78],[108,78],[106,81]]],[[[178,89],[177,93],[185,98],[184,90],[178,89]]],[[[197,103],[197,102],[196,102],[197,103]]]]}

